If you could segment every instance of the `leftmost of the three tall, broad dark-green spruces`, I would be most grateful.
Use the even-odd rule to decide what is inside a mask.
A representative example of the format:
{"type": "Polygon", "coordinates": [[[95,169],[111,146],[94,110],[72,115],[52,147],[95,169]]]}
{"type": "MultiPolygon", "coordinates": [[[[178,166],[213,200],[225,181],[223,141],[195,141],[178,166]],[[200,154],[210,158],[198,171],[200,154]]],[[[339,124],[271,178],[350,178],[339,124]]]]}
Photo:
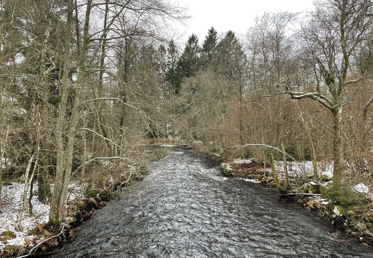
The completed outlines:
{"type": "Polygon", "coordinates": [[[184,52],[182,53],[178,62],[180,78],[195,75],[201,65],[200,51],[197,35],[192,34],[189,36],[188,41],[186,41],[184,52]]]}

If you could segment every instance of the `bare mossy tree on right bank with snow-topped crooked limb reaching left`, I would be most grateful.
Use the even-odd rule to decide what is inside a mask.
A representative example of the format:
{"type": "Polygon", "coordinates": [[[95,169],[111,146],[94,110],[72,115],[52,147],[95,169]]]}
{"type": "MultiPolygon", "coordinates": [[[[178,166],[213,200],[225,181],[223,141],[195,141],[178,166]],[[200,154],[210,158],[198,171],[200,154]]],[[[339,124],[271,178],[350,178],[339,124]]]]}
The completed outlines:
{"type": "Polygon", "coordinates": [[[349,85],[359,87],[365,71],[351,69],[351,59],[357,45],[366,40],[372,25],[371,1],[327,0],[315,3],[310,20],[302,28],[302,39],[310,53],[314,69],[315,91],[297,91],[300,81],[283,81],[268,96],[288,94],[292,99],[311,98],[330,110],[333,116],[333,184],[338,186],[345,177],[344,133],[342,109],[355,96],[347,93],[349,85]],[[313,65],[314,64],[314,65],[313,65]]]}

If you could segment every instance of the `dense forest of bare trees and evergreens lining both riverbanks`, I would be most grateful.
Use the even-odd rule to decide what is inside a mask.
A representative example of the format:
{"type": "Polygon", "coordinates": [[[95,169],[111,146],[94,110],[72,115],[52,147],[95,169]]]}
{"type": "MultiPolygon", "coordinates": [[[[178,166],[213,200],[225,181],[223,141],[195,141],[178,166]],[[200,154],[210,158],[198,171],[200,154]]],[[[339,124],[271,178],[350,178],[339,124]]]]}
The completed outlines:
{"type": "Polygon", "coordinates": [[[316,0],[182,43],[190,18],[168,0],[0,0],[7,230],[30,230],[36,201],[58,230],[74,198],[140,180],[155,142],[282,162],[281,193],[313,180],[308,193],[358,207],[349,223],[373,239],[372,1],[316,0]],[[290,166],[303,181],[289,182],[290,166]]]}

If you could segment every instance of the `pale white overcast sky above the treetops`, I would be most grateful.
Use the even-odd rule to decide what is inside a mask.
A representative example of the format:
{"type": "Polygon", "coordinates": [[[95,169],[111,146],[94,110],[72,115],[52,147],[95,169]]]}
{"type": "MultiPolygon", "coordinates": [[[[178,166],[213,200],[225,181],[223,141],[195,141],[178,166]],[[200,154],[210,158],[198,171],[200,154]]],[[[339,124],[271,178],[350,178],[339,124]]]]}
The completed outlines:
{"type": "MultiPolygon", "coordinates": [[[[253,25],[256,15],[266,11],[310,10],[313,0],[178,0],[180,6],[188,6],[193,19],[188,21],[184,41],[192,33],[203,42],[207,30],[213,26],[217,32],[232,31],[244,34],[253,25]]],[[[183,29],[183,28],[181,28],[183,29]]],[[[183,40],[181,40],[183,41],[183,40]]]]}

